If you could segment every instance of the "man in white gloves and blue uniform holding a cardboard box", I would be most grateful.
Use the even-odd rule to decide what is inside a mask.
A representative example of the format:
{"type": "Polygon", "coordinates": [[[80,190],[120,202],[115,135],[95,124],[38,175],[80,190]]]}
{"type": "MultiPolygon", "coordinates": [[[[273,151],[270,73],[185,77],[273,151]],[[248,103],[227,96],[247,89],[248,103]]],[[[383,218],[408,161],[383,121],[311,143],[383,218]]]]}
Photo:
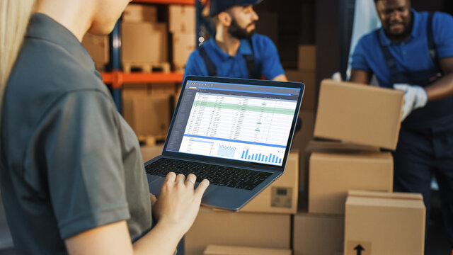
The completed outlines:
{"type": "Polygon", "coordinates": [[[358,42],[350,81],[368,84],[374,74],[379,86],[405,92],[394,191],[422,193],[429,212],[435,176],[453,248],[453,18],[417,12],[410,0],[374,3],[382,28],[358,42]]]}

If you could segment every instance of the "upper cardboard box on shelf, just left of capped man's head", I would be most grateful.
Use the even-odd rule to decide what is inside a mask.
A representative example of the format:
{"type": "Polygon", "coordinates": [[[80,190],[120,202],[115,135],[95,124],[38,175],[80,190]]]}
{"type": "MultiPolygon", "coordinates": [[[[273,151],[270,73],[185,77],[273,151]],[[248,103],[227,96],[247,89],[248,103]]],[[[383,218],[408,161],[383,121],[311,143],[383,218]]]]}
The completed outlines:
{"type": "Polygon", "coordinates": [[[195,34],[195,6],[171,4],[168,6],[169,30],[195,34]]]}

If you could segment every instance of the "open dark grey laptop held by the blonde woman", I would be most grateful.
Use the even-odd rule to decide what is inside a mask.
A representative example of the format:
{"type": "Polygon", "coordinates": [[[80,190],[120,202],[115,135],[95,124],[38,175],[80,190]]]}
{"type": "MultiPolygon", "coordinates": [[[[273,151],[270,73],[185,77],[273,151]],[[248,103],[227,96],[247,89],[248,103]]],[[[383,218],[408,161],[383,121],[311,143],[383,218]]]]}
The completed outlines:
{"type": "Polygon", "coordinates": [[[285,171],[304,84],[186,77],[161,156],[144,164],[158,195],[170,171],[210,186],[202,205],[239,210],[285,171]]]}

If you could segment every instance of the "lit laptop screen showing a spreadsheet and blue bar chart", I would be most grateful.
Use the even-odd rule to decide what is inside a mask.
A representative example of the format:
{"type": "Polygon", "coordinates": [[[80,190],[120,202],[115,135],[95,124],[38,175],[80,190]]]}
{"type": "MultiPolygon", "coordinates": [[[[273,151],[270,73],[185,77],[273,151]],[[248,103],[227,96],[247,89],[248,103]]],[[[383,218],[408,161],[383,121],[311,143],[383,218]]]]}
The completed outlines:
{"type": "Polygon", "coordinates": [[[189,77],[166,150],[282,166],[300,93],[189,77]]]}

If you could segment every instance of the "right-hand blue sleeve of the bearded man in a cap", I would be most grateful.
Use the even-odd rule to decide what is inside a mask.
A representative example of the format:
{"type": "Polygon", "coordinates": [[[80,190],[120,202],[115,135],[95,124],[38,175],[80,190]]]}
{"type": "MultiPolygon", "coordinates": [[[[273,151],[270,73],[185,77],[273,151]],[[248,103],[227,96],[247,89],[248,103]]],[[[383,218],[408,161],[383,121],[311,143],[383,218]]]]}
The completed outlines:
{"type": "Polygon", "coordinates": [[[261,74],[266,79],[274,79],[275,77],[285,74],[285,70],[280,63],[277,47],[270,38],[261,35],[256,42],[258,49],[263,54],[261,74]]]}

